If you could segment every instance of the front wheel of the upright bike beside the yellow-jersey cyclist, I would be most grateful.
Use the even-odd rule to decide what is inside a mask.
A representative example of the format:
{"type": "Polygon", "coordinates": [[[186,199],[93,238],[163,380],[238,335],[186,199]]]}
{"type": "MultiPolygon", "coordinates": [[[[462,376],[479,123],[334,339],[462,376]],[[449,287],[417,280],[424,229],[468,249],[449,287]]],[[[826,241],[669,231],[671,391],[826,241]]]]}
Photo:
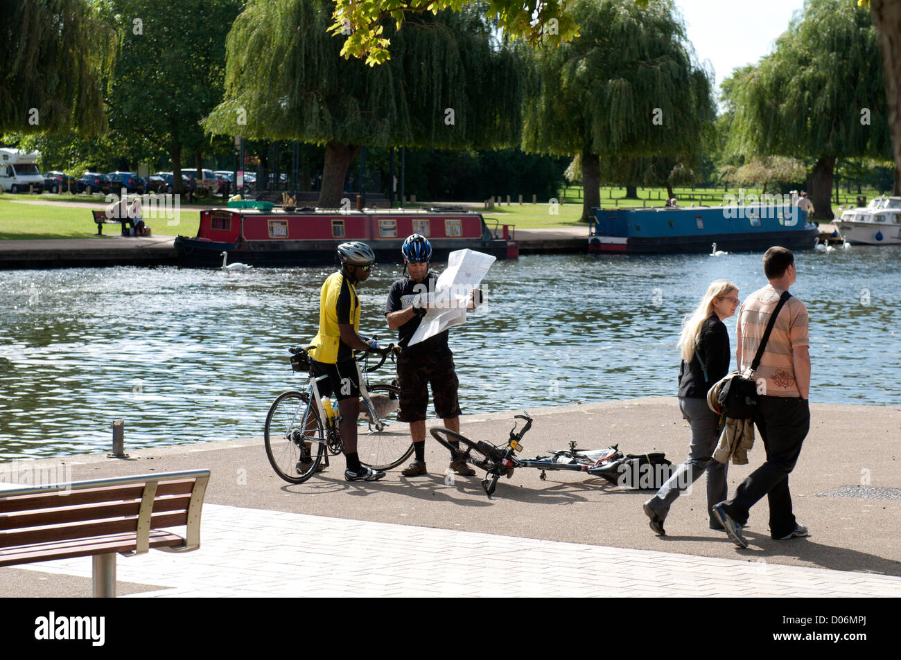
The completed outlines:
{"type": "Polygon", "coordinates": [[[395,385],[372,385],[369,397],[378,420],[385,426],[378,430],[369,420],[369,409],[360,402],[357,426],[359,462],[374,470],[390,470],[399,466],[413,453],[410,425],[397,420],[400,388],[395,385]]]}

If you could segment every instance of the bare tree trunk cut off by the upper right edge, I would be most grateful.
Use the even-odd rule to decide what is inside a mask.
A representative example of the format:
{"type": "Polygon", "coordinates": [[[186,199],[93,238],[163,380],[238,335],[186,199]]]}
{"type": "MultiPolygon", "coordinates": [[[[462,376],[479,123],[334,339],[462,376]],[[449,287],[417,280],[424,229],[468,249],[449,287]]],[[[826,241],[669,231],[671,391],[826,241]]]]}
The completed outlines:
{"type": "Polygon", "coordinates": [[[871,0],[869,8],[879,37],[886,81],[888,130],[895,152],[895,188],[901,194],[901,0],[871,0]]]}

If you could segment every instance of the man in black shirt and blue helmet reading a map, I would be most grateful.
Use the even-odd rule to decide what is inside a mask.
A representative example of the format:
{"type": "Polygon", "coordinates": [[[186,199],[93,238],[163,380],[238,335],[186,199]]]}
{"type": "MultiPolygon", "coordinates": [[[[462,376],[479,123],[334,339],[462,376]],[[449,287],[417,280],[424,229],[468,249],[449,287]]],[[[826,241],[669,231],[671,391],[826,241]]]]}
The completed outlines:
{"type": "MultiPolygon", "coordinates": [[[[409,276],[397,280],[388,293],[385,316],[388,327],[397,329],[398,344],[402,348],[397,357],[397,378],[400,386],[400,411],[397,419],[410,423],[415,460],[401,474],[405,476],[427,475],[425,467],[425,418],[429,404],[428,386],[432,385],[435,413],[444,420],[444,426],[460,432],[460,403],[457,390],[460,381],[454,370],[453,353],[448,346],[448,331],[409,346],[409,341],[429,307],[429,294],[434,298],[438,279],[429,272],[432,244],[421,234],[413,234],[404,241],[401,249],[409,276]]],[[[481,303],[480,294],[469,294],[468,309],[475,309],[474,301],[481,303]]],[[[452,457],[451,457],[452,458],[452,457]]],[[[475,475],[476,472],[462,460],[452,460],[451,469],[458,475],[475,475]]]]}

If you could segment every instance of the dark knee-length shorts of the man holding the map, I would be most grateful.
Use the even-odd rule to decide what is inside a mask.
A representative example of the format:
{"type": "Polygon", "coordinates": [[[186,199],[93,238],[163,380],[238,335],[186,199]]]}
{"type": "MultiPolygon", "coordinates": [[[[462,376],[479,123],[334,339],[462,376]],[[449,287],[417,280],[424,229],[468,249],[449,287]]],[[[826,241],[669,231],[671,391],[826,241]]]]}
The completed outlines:
{"type": "Polygon", "coordinates": [[[429,389],[432,385],[432,399],[435,414],[441,419],[460,417],[460,402],[457,388],[460,381],[454,371],[451,351],[424,355],[401,353],[397,357],[397,380],[400,386],[401,421],[420,421],[426,418],[429,406],[429,389]]]}

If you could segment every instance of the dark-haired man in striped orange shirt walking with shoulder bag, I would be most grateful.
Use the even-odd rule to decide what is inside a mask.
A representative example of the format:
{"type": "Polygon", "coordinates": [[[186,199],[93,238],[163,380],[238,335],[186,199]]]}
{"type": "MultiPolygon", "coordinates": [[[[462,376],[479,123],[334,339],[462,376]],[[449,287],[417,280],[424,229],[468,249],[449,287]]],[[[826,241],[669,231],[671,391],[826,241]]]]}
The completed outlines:
{"type": "MultiPolygon", "coordinates": [[[[776,309],[779,297],[795,284],[797,270],[791,250],[773,247],[763,255],[763,272],[769,285],[755,291],[742,303],[736,325],[739,368],[751,367],[760,339],[776,309]]],[[[764,495],[769,501],[769,533],[787,540],[807,536],[792,512],[788,475],[801,453],[810,429],[810,353],[807,339],[807,309],[795,297],[788,299],[776,319],[772,334],[754,373],[760,403],[754,423],[763,438],[767,459],[738,487],[732,500],[714,505],[726,534],[739,547],[748,547],[742,527],[751,507],[764,495]]]]}

